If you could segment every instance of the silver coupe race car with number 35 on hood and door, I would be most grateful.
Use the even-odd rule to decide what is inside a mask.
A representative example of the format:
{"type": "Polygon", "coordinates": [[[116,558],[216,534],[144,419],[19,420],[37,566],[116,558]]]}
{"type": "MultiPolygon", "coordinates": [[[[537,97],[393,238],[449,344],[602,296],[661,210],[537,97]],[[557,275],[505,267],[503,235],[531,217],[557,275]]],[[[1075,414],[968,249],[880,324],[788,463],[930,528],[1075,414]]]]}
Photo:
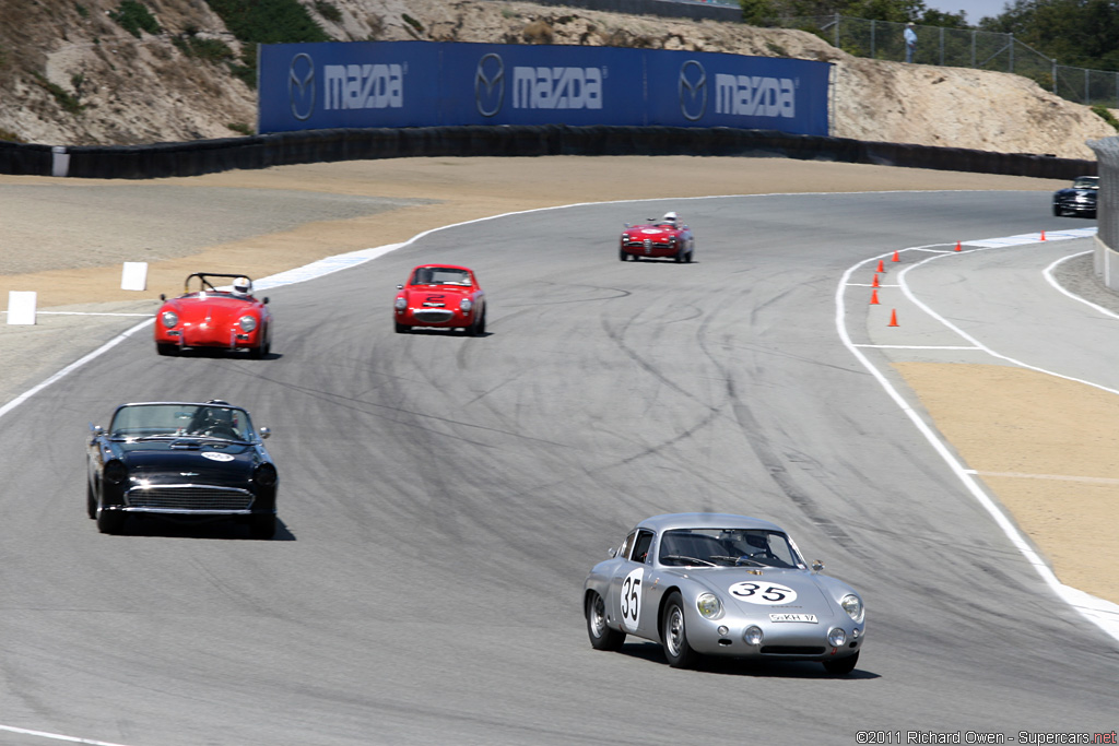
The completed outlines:
{"type": "Polygon", "coordinates": [[[724,513],[655,516],[591,569],[583,611],[591,644],[627,634],[661,643],[674,668],[702,655],[819,661],[855,669],[866,638],[863,598],[806,564],[778,526],[724,513]]]}

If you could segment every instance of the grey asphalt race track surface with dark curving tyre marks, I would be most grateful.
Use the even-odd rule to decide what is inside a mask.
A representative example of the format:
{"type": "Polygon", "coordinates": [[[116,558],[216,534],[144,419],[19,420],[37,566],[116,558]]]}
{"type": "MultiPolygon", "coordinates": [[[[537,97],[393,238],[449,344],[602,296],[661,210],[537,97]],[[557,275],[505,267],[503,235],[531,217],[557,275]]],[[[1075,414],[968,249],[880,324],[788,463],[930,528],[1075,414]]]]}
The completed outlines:
{"type": "MultiPolygon", "coordinates": [[[[270,291],[271,359],[159,358],[137,333],[0,423],[0,744],[49,743],[12,729],[126,746],[1112,731],[1119,642],[1041,582],[836,327],[840,278],[868,257],[1093,225],[1049,209],[1042,192],[887,192],[536,211],[270,291]],[[619,262],[622,223],[666,209],[695,230],[696,263],[619,262]],[[425,261],[478,272],[487,336],[393,332],[395,286],[425,261]],[[278,538],[100,535],[87,424],[124,402],[209,398],[273,429],[278,538]],[[771,519],[863,592],[854,674],[591,649],[587,569],[638,520],[693,510],[771,519]]],[[[1075,323],[1079,306],[986,282],[993,317],[957,259],[1017,276],[1013,252],[990,252],[911,284],[941,312],[970,309],[991,347],[1119,386],[1098,348],[1055,324],[1023,339],[1008,308],[1052,303],[1075,323]]],[[[885,343],[883,312],[849,304],[857,341],[885,343]]]]}

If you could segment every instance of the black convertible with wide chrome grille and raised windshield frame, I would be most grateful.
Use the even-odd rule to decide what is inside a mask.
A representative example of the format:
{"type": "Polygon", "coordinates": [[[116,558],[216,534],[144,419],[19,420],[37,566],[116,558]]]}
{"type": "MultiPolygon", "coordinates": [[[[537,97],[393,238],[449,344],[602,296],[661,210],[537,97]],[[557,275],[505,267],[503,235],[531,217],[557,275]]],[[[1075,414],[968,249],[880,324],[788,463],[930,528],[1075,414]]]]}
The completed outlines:
{"type": "Polygon", "coordinates": [[[106,431],[90,425],[86,508],[103,533],[125,519],[237,520],[254,538],[276,530],[279,476],[269,429],[227,402],[144,402],[116,407],[106,431]]]}

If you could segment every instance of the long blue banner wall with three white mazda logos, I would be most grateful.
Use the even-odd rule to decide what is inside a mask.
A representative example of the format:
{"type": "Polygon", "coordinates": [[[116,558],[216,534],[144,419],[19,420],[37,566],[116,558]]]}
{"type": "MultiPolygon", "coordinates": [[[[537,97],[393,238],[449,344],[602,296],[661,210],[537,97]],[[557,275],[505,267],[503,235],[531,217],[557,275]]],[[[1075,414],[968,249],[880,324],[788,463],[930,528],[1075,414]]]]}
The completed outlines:
{"type": "Polygon", "coordinates": [[[828,134],[827,63],[619,47],[262,45],[257,131],[466,124],[828,134]]]}

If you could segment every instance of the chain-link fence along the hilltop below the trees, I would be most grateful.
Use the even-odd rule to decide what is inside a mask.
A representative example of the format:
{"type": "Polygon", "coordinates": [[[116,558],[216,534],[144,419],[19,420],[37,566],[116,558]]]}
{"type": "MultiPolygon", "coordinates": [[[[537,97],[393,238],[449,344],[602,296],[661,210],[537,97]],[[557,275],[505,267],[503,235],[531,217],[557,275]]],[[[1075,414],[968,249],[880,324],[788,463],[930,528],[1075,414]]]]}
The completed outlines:
{"type": "MultiPolygon", "coordinates": [[[[905,23],[847,16],[798,16],[774,21],[782,28],[817,34],[856,57],[905,62],[905,23]]],[[[1013,34],[979,29],[914,26],[913,62],[943,67],[1014,73],[1062,98],[1089,106],[1119,108],[1119,73],[1059,65],[1013,34]]]]}

